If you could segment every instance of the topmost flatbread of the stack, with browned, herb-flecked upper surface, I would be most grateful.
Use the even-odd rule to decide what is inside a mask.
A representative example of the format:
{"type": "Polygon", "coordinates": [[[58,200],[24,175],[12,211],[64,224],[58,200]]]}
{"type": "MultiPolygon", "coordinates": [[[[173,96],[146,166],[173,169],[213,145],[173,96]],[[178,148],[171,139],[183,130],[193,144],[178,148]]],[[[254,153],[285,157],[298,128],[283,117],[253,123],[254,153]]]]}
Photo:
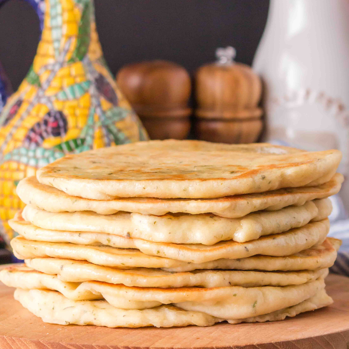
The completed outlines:
{"type": "Polygon", "coordinates": [[[148,141],[67,155],[37,171],[40,183],[69,195],[220,198],[329,181],[339,150],[307,152],[267,143],[148,141]]]}

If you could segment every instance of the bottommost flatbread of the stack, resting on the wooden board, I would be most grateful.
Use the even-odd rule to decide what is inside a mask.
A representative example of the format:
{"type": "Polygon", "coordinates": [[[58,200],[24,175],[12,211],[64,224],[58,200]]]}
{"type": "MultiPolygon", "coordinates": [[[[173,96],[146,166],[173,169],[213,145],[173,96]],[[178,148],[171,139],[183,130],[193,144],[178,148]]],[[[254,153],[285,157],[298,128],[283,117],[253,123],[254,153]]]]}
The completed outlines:
{"type": "MultiPolygon", "coordinates": [[[[42,318],[44,322],[59,325],[77,324],[132,328],[144,326],[181,327],[188,325],[212,326],[216,322],[224,321],[205,313],[184,311],[171,305],[144,310],[122,310],[103,300],[70,300],[55,291],[16,289],[14,297],[30,312],[42,318]]],[[[283,320],[286,316],[293,317],[331,303],[333,303],[332,298],[327,296],[324,289],[321,289],[313,297],[297,305],[258,317],[234,319],[229,320],[229,322],[283,320]]]]}

